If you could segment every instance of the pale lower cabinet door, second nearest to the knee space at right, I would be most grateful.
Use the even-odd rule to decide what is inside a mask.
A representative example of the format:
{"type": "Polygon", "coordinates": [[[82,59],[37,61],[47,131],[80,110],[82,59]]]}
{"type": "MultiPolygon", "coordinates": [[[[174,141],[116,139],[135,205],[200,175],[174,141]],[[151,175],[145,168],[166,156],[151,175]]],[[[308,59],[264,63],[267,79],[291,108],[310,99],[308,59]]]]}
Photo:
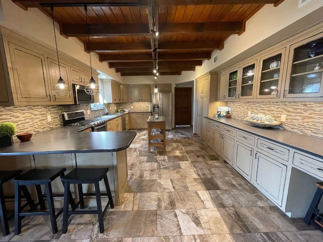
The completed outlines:
{"type": "Polygon", "coordinates": [[[248,180],[251,180],[253,152],[253,148],[236,142],[233,167],[248,180]]]}

